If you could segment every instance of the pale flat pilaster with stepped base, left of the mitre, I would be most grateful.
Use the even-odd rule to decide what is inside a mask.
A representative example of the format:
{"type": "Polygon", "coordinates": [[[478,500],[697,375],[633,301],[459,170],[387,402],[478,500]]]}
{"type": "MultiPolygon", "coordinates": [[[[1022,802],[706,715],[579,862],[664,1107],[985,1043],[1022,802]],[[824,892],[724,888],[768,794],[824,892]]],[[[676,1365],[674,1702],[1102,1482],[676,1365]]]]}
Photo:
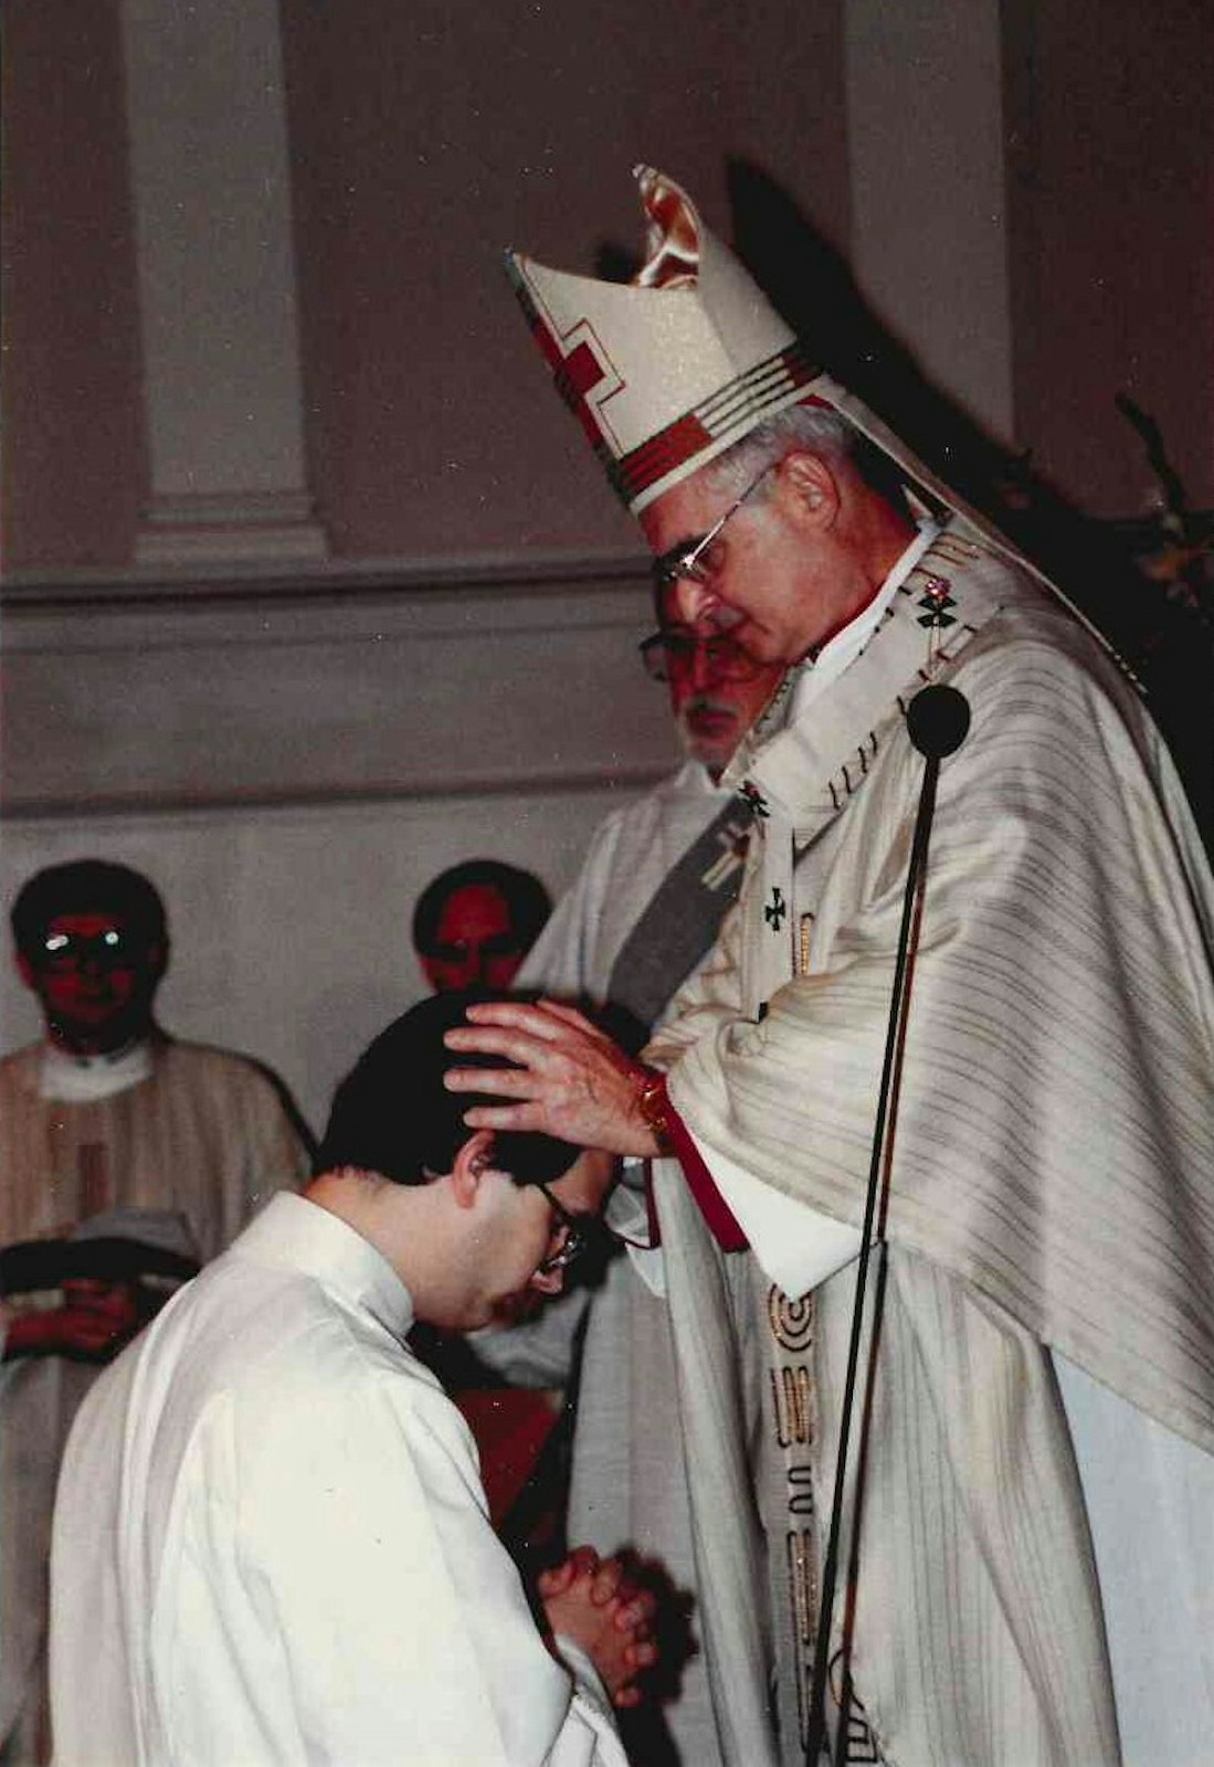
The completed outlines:
{"type": "Polygon", "coordinates": [[[150,500],[140,564],[318,558],[276,0],[124,0],[150,500]]]}

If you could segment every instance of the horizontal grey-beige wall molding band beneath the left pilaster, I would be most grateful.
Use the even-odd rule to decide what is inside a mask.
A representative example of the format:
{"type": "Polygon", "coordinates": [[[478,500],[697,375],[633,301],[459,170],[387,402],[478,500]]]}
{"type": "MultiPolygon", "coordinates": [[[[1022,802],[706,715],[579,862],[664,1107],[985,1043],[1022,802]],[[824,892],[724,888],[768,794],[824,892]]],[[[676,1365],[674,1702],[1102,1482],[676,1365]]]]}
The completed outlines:
{"type": "Polygon", "coordinates": [[[636,562],[95,576],[5,606],[4,815],[641,790],[671,765],[636,562]]]}

